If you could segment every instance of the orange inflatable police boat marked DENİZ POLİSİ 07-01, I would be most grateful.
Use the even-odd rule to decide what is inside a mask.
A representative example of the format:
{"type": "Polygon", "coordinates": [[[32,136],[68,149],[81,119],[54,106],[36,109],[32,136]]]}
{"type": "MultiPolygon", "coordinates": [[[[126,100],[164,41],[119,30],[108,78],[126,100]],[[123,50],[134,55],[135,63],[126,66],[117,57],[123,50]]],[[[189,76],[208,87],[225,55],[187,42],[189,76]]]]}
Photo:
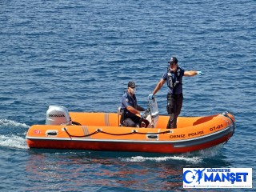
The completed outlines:
{"type": "Polygon", "coordinates": [[[178,128],[166,129],[169,116],[158,114],[156,101],[147,112],[148,127],[124,127],[118,113],[69,113],[63,106],[50,106],[46,125],[30,126],[26,142],[30,148],[173,154],[216,146],[234,134],[229,113],[179,117],[178,128]]]}

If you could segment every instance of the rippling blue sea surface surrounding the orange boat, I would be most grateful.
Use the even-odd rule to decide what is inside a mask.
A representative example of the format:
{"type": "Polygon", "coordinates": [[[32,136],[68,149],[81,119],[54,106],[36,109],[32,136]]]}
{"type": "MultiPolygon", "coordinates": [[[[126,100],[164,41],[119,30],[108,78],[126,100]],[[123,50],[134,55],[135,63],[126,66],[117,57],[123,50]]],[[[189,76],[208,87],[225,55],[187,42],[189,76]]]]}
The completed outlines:
{"type": "MultiPolygon", "coordinates": [[[[2,0],[0,26],[1,191],[184,191],[186,167],[253,168],[254,185],[256,1],[2,0]],[[146,106],[171,56],[204,73],[183,78],[181,116],[234,114],[224,146],[142,154],[26,145],[50,105],[116,112],[134,81],[146,106]]],[[[156,95],[160,114],[166,92],[156,95]]]]}

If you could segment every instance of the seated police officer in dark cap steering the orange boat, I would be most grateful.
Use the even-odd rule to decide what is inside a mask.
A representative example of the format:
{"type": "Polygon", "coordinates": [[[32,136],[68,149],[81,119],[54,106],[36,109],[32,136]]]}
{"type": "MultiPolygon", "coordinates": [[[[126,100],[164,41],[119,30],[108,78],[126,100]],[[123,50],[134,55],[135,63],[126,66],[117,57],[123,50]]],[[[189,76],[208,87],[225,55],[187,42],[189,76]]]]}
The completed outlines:
{"type": "Polygon", "coordinates": [[[135,91],[135,82],[128,82],[128,89],[125,90],[125,93],[122,95],[122,116],[120,120],[122,126],[136,127],[141,120],[136,114],[142,115],[142,111],[145,110],[141,106],[138,106],[135,91]]]}

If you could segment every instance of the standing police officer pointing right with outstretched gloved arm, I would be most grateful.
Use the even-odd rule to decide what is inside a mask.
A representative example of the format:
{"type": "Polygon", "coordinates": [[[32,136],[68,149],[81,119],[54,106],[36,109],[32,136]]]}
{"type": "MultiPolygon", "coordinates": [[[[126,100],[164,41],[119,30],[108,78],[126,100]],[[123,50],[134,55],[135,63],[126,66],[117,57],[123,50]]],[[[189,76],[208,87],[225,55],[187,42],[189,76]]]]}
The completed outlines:
{"type": "Polygon", "coordinates": [[[183,94],[182,94],[182,77],[194,76],[196,74],[201,75],[202,71],[189,70],[185,71],[178,66],[178,59],[175,57],[170,58],[168,62],[166,73],[162,75],[162,79],[155,86],[152,94],[149,94],[148,98],[154,98],[154,94],[158,92],[167,81],[168,94],[167,94],[167,112],[170,114],[169,122],[166,126],[167,129],[177,128],[177,118],[182,110],[183,94]]]}

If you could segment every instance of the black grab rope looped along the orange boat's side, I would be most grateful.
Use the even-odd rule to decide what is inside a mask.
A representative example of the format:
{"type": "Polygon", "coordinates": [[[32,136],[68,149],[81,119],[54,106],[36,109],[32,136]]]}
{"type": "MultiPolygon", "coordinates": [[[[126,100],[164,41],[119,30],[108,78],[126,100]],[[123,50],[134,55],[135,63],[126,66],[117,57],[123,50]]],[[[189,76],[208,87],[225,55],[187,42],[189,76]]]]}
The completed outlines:
{"type": "Polygon", "coordinates": [[[166,131],[162,131],[162,132],[158,132],[158,133],[140,133],[140,132],[138,132],[137,130],[132,130],[132,132],[126,133],[126,134],[111,134],[111,133],[105,132],[105,131],[103,131],[103,130],[101,130],[101,129],[97,129],[96,131],[94,131],[94,133],[91,133],[91,134],[72,135],[72,134],[70,134],[70,133],[66,130],[66,127],[64,127],[64,130],[66,131],[66,134],[68,134],[70,138],[86,138],[86,137],[89,137],[89,136],[91,136],[91,135],[98,134],[98,133],[110,134],[110,135],[115,135],[115,136],[122,136],[122,135],[128,135],[128,134],[169,134],[169,133],[171,133],[170,130],[166,130],[166,131]]]}

